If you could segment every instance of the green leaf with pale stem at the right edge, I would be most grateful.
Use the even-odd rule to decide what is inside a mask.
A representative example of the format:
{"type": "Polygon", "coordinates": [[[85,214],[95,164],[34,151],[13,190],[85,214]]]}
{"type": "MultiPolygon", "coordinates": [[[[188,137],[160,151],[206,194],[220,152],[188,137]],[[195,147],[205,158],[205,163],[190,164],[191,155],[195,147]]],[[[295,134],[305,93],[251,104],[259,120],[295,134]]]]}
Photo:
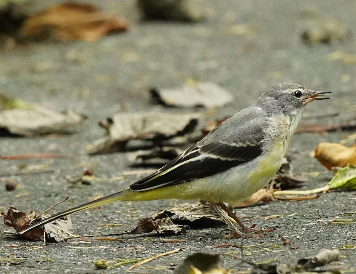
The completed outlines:
{"type": "Polygon", "coordinates": [[[356,189],[356,165],[349,164],[347,167],[338,170],[326,186],[330,189],[356,189]]]}

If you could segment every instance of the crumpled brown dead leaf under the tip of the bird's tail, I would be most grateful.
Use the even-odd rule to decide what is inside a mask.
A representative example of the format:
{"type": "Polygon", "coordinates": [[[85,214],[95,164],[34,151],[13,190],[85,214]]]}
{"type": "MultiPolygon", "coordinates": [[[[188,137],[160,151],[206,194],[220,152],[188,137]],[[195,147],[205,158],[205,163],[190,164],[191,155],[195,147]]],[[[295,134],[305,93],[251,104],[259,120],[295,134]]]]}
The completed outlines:
{"type": "MultiPolygon", "coordinates": [[[[7,212],[1,212],[1,217],[4,219],[4,224],[8,227],[13,227],[16,232],[26,229],[30,226],[32,220],[34,220],[37,215],[35,211],[31,211],[30,215],[25,212],[19,211],[16,208],[10,206],[7,208],[7,212]]],[[[41,215],[38,220],[43,220],[47,218],[46,215],[41,215]]],[[[50,222],[44,226],[38,227],[24,235],[22,237],[29,240],[53,240],[60,242],[67,238],[70,233],[66,233],[72,230],[72,220],[68,218],[61,218],[56,221],[50,222]]]]}

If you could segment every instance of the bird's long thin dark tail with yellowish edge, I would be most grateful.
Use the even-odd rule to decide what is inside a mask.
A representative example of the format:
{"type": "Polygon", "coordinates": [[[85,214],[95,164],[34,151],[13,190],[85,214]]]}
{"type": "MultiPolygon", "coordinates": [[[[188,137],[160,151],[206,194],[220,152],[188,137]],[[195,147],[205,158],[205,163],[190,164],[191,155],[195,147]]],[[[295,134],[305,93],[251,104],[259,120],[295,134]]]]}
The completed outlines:
{"type": "Polygon", "coordinates": [[[54,215],[48,217],[45,220],[36,222],[35,224],[33,224],[33,225],[27,227],[26,229],[20,231],[18,234],[23,235],[23,234],[25,234],[25,233],[33,230],[33,229],[36,229],[37,227],[43,226],[45,224],[48,224],[49,222],[52,222],[52,221],[57,220],[59,218],[65,217],[65,216],[67,216],[69,214],[72,214],[72,213],[75,213],[75,212],[78,212],[78,211],[82,211],[84,209],[91,208],[93,206],[98,206],[98,205],[102,205],[102,204],[111,203],[111,202],[114,202],[114,201],[117,201],[117,200],[121,200],[122,198],[125,197],[125,193],[127,193],[128,191],[130,191],[130,190],[124,190],[124,191],[116,192],[114,194],[108,195],[108,196],[100,198],[100,199],[96,199],[96,200],[91,201],[89,203],[78,205],[78,206],[75,206],[74,208],[70,208],[70,209],[64,210],[61,213],[54,214],[54,215]]]}

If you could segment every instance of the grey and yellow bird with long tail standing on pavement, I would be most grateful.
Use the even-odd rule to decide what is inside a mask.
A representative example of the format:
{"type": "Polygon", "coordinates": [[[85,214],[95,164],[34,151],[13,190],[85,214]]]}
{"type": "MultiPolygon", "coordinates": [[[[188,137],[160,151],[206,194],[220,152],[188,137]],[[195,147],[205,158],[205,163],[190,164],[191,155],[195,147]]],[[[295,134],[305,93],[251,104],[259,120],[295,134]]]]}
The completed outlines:
{"type": "Polygon", "coordinates": [[[331,98],[324,97],[326,93],[330,91],[313,91],[298,84],[274,85],[255,104],[231,115],[203,139],[128,189],[49,216],[19,234],[117,200],[198,199],[210,203],[225,220],[231,237],[260,237],[265,230],[241,222],[225,203],[242,202],[272,180],[282,166],[303,108],[312,101],[331,98]]]}

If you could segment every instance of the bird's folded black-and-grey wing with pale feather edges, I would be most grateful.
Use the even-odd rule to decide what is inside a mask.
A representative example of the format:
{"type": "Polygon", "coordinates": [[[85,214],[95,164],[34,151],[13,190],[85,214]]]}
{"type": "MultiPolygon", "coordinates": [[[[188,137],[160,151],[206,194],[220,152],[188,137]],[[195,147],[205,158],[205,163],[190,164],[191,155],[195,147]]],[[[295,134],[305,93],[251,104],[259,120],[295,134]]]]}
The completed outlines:
{"type": "Polygon", "coordinates": [[[226,119],[176,159],[132,184],[130,189],[141,192],[189,182],[225,171],[261,155],[262,128],[266,118],[260,114],[253,119],[241,119],[241,115],[237,114],[226,119]]]}

